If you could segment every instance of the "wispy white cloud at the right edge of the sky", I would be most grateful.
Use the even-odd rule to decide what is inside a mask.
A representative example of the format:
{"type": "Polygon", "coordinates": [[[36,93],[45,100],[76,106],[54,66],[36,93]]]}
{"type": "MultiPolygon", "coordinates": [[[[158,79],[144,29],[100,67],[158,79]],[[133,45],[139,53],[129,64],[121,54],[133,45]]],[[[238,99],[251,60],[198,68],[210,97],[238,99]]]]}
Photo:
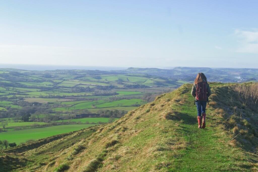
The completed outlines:
{"type": "Polygon", "coordinates": [[[257,53],[258,54],[258,30],[246,31],[236,29],[234,35],[240,43],[237,52],[240,53],[257,53]]]}

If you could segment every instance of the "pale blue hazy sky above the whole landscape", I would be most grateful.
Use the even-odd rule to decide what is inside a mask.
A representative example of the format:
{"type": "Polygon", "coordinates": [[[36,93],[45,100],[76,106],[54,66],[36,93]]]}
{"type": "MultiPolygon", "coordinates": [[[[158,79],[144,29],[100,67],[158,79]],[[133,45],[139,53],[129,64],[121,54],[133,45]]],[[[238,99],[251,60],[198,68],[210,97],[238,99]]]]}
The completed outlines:
{"type": "Polygon", "coordinates": [[[0,63],[258,68],[258,1],[1,1],[0,63]]]}

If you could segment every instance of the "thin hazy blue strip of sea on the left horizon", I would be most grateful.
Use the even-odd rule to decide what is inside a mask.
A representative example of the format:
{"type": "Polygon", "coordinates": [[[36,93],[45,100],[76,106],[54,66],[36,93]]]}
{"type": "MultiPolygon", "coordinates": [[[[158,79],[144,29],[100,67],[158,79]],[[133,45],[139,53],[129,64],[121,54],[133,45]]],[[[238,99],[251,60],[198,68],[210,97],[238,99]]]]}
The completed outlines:
{"type": "Polygon", "coordinates": [[[108,67],[108,66],[70,66],[70,65],[37,65],[37,64],[0,64],[0,68],[15,68],[22,70],[123,70],[126,67],[108,67]]]}

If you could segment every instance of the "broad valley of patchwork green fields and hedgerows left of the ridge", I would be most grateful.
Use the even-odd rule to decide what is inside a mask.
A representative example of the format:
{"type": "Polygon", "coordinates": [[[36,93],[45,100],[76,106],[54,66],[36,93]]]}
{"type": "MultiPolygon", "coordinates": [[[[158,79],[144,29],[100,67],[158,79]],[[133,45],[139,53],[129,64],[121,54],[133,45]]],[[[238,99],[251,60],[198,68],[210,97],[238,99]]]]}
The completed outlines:
{"type": "Polygon", "coordinates": [[[180,85],[135,73],[0,69],[0,140],[19,144],[110,122],[180,85]],[[76,119],[77,114],[100,118],[76,119]]]}

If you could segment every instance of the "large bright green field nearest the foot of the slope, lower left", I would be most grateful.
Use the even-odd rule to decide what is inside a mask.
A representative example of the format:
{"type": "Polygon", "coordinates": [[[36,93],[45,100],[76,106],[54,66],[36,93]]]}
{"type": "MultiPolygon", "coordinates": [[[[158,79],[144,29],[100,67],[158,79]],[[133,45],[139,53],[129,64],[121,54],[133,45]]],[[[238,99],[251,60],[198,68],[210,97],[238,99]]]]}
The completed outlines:
{"type": "Polygon", "coordinates": [[[15,142],[20,144],[21,142],[26,142],[27,140],[33,139],[38,140],[41,138],[46,138],[54,136],[57,134],[68,133],[83,128],[88,128],[96,124],[70,124],[70,125],[57,125],[51,127],[33,128],[25,130],[12,130],[8,132],[0,133],[1,140],[8,140],[10,143],[15,142]]]}

